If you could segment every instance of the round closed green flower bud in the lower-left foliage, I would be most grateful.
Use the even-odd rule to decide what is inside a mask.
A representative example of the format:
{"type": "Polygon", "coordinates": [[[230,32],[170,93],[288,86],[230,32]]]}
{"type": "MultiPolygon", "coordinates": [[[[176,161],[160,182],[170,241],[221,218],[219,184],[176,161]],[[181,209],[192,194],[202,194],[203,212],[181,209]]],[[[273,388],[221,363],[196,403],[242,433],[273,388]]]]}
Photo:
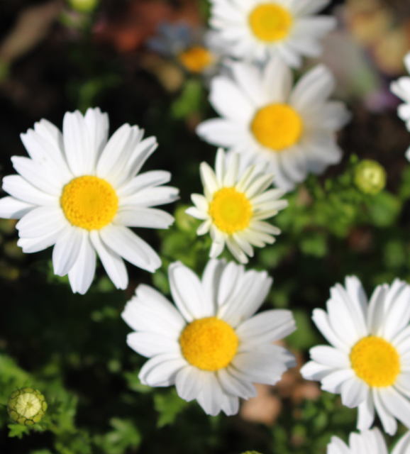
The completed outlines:
{"type": "Polygon", "coordinates": [[[47,402],[38,389],[21,388],[11,393],[7,411],[13,421],[26,426],[40,422],[47,410],[47,402]]]}

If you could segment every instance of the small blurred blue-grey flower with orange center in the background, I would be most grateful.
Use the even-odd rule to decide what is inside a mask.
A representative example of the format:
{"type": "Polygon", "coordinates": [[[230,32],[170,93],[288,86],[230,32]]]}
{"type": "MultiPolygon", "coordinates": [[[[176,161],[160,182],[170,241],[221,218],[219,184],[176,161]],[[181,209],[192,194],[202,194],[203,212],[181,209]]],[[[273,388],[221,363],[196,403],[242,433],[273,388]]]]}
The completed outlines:
{"type": "Polygon", "coordinates": [[[221,60],[221,43],[213,31],[194,29],[187,23],[161,23],[148,48],[174,58],[184,70],[211,74],[221,60]]]}

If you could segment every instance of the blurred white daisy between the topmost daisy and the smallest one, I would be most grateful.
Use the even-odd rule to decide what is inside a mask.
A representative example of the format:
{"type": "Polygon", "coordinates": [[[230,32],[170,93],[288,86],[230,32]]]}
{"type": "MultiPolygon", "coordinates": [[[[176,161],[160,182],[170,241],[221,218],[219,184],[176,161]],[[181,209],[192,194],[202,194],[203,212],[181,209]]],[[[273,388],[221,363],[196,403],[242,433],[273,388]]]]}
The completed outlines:
{"type": "Polygon", "coordinates": [[[278,59],[262,70],[231,64],[233,77],[211,82],[210,101],[223,118],[204,121],[197,133],[209,143],[263,162],[278,187],[292,189],[309,172],[340,162],[336,134],[349,119],[341,102],[328,101],[335,82],[317,66],[292,89],[292,72],[278,59]]]}

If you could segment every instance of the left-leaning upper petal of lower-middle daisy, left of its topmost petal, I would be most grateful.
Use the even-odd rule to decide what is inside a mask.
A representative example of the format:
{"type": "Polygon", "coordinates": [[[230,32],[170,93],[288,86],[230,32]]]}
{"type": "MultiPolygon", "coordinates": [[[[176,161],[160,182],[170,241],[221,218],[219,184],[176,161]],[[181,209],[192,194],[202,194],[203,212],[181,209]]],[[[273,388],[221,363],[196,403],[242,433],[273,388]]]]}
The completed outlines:
{"type": "Polygon", "coordinates": [[[215,315],[214,301],[206,298],[204,287],[192,270],[174,262],[168,268],[172,298],[184,319],[192,321],[215,315]]]}

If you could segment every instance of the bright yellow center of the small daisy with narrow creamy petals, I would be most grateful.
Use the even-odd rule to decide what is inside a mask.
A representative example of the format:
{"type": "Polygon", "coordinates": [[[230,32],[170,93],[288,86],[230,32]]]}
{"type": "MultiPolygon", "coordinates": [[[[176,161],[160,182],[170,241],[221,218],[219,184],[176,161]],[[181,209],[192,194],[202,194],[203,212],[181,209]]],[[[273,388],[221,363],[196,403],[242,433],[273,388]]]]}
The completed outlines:
{"type": "Polygon", "coordinates": [[[234,187],[219,189],[209,204],[209,215],[214,224],[226,233],[235,233],[247,228],[252,214],[248,197],[234,187]]]}

